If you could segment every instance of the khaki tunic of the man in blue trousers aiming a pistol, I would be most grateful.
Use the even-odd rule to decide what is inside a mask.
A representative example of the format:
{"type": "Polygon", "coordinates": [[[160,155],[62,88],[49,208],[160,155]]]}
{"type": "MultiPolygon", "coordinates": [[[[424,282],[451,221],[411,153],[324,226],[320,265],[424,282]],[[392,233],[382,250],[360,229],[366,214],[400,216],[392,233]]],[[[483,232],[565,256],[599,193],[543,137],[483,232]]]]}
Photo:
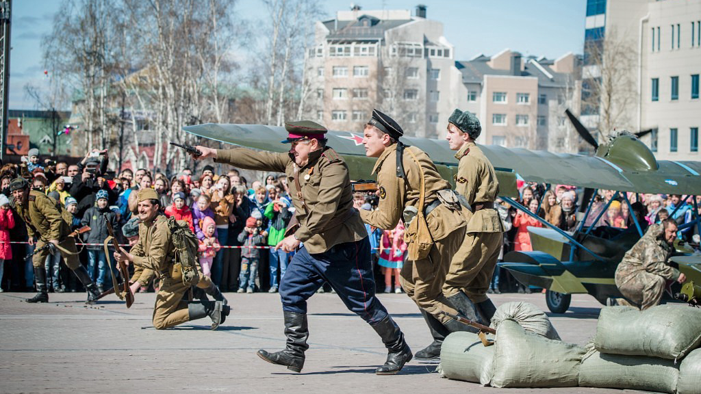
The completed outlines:
{"type": "Polygon", "coordinates": [[[285,172],[294,216],[299,223],[294,235],[310,254],[326,252],[339,243],[367,237],[365,225],[353,208],[348,166],[329,147],[311,152],[304,168],[299,168],[290,154],[244,148],[217,150],[217,163],[250,170],[285,172]],[[294,180],[298,172],[301,191],[294,180]]]}

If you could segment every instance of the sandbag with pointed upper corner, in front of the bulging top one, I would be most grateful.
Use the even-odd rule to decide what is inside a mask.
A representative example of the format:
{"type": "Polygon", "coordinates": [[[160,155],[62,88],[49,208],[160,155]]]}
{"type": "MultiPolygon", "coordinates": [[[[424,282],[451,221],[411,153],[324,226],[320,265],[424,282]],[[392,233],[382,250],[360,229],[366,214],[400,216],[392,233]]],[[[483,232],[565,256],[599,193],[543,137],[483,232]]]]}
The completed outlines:
{"type": "Polygon", "coordinates": [[[503,320],[494,345],[494,387],[575,387],[584,348],[547,339],[503,320]]]}

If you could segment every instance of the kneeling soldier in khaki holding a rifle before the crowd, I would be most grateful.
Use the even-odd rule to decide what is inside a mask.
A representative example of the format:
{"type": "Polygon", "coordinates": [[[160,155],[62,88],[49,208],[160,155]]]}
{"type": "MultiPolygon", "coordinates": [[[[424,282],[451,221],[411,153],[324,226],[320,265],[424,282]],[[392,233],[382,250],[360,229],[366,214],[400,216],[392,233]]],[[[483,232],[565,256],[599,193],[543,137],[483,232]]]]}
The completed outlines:
{"type": "Polygon", "coordinates": [[[133,263],[143,269],[151,269],[161,277],[161,288],[156,294],[154,306],[154,327],[163,330],[191,320],[212,319],[212,330],[224,322],[231,308],[222,301],[203,300],[188,302],[185,299],[189,284],[177,277],[174,269],[175,247],[165,216],[161,214],[161,202],[154,189],[141,189],[137,194],[139,240],[130,252],[122,247],[114,252],[114,257],[133,263]]]}

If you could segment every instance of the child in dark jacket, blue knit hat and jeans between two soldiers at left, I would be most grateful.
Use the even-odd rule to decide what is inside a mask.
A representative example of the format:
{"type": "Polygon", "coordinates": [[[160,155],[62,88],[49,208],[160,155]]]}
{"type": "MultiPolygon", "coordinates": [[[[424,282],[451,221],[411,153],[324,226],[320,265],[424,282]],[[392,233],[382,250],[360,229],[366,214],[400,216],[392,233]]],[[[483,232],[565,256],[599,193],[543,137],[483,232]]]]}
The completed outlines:
{"type": "Polygon", "coordinates": [[[86,246],[88,250],[88,272],[90,273],[90,278],[95,280],[95,266],[97,265],[98,272],[95,282],[100,292],[104,292],[105,285],[111,283],[111,280],[107,278],[107,267],[109,266],[109,269],[114,270],[115,266],[114,259],[110,256],[108,260],[108,257],[104,254],[104,247],[102,247],[102,243],[109,236],[106,221],[109,220],[113,228],[117,226],[117,215],[107,206],[107,198],[107,191],[97,191],[95,206],[88,208],[85,215],[83,215],[83,220],[81,220],[83,226],[90,226],[86,243],[95,244],[86,246]],[[107,218],[105,218],[105,214],[107,214],[107,218]]]}

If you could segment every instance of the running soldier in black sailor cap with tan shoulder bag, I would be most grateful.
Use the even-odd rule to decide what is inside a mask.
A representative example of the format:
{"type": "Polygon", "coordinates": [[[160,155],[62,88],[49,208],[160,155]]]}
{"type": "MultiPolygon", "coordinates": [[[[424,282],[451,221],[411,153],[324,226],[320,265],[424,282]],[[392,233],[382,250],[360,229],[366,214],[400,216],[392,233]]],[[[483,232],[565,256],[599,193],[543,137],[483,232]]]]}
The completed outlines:
{"type": "Polygon", "coordinates": [[[420,308],[432,334],[445,336],[468,327],[441,313],[456,313],[442,287],[451,257],[465,238],[462,211],[467,208],[425,152],[400,142],[403,134],[393,118],[372,111],[363,144],[365,154],[377,158],[372,172],[377,174],[380,199],[377,210],[360,210],[360,217],[389,230],[404,215],[409,253],[400,272],[402,287],[420,308]]]}

